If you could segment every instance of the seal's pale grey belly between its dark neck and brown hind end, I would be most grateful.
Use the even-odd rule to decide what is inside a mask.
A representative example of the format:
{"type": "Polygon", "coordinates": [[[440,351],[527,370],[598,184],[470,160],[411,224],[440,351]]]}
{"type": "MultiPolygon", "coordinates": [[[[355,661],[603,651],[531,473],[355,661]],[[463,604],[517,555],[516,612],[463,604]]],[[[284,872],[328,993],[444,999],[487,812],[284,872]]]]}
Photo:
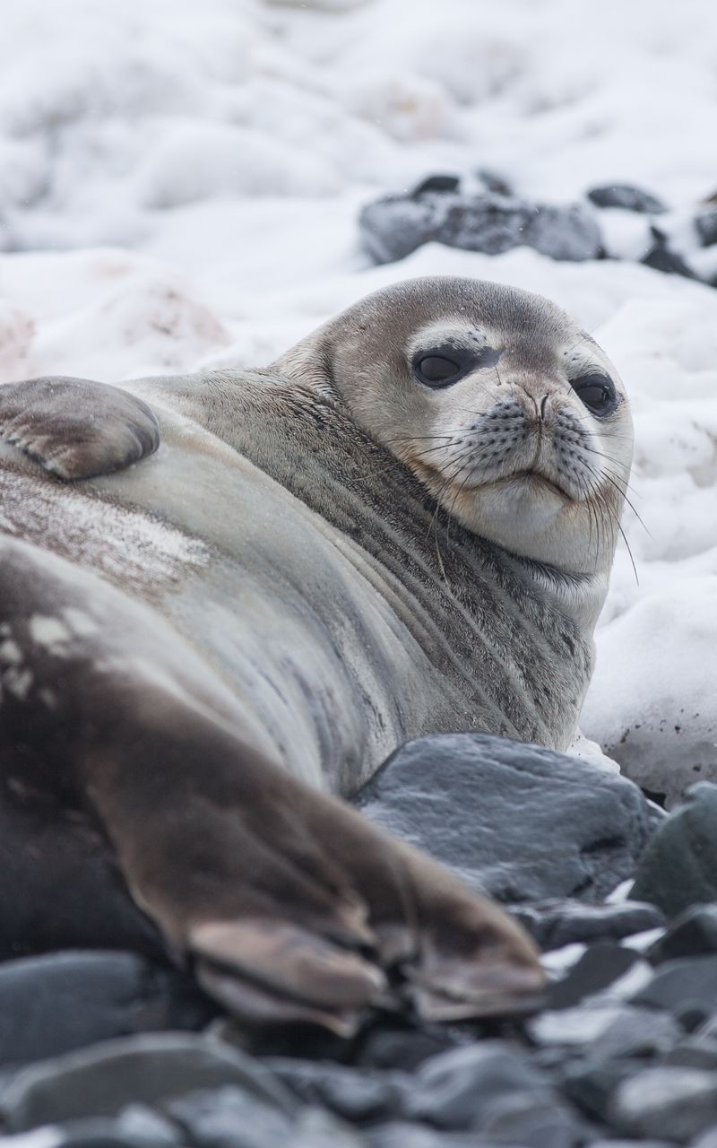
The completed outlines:
{"type": "Polygon", "coordinates": [[[358,544],[195,424],[170,418],[163,437],[75,487],[6,472],[0,527],[150,605],[202,656],[208,691],[228,688],[314,785],[349,793],[428,731],[544,739],[517,668],[502,695],[446,669],[423,639],[441,620],[358,544]]]}

